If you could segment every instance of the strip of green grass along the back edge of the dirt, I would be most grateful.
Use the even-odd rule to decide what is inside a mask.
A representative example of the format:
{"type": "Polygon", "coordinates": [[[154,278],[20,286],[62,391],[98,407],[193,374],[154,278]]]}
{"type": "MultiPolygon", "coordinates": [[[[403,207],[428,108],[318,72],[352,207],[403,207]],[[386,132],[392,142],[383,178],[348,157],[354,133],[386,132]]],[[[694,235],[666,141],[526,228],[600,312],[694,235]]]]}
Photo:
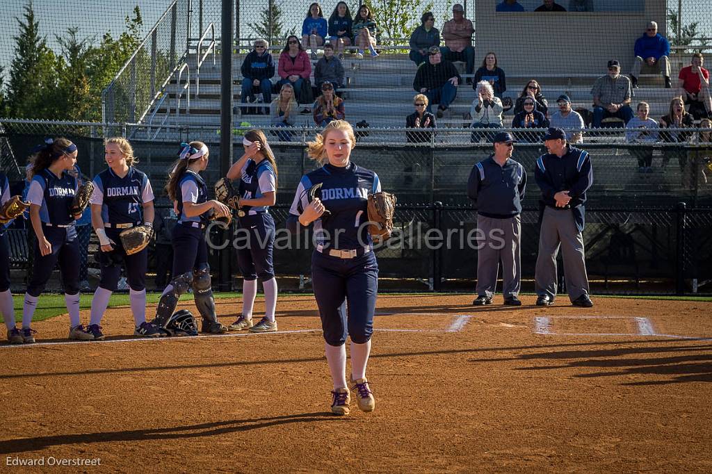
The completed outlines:
{"type": "MultiPolygon", "coordinates": [[[[302,293],[300,293],[302,294],[302,293]]],[[[308,295],[308,293],[303,293],[308,295]]],[[[458,293],[382,293],[384,296],[445,296],[445,295],[457,295],[458,293]]],[[[461,293],[465,294],[465,293],[461,293]]],[[[240,293],[234,292],[221,292],[214,293],[216,299],[219,298],[230,298],[239,297],[240,293]]],[[[79,307],[83,310],[88,310],[91,307],[91,298],[93,294],[88,293],[81,295],[79,300],[79,307]]],[[[146,302],[156,303],[158,302],[161,295],[159,293],[148,293],[146,295],[146,302]]],[[[183,295],[181,300],[191,300],[192,295],[183,295]]],[[[622,298],[631,300],[667,300],[667,301],[701,301],[701,302],[712,302],[712,296],[665,296],[665,295],[650,295],[650,296],[637,296],[637,295],[593,295],[594,298],[622,298]]],[[[15,303],[15,320],[21,322],[22,320],[22,306],[24,301],[24,295],[13,295],[13,300],[15,303]]],[[[111,295],[109,300],[109,307],[119,307],[129,305],[129,295],[127,293],[115,293],[111,295]]],[[[41,295],[40,300],[37,304],[37,309],[35,310],[35,315],[33,321],[42,321],[50,317],[55,317],[58,315],[63,315],[67,312],[67,308],[64,305],[64,295],[41,295]]]]}

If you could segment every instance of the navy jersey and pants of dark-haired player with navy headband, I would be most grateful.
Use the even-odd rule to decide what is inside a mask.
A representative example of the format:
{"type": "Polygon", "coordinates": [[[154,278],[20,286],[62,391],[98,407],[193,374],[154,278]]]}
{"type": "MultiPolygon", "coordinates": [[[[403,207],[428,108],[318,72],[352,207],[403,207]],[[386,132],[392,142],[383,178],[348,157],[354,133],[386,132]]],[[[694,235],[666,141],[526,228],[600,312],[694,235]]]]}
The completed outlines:
{"type": "Polygon", "coordinates": [[[70,212],[77,189],[77,179],[66,171],[57,177],[49,169],[43,169],[30,181],[27,200],[40,206],[42,230],[52,245],[52,252],[42,256],[36,241],[32,278],[27,285],[28,295],[38,297],[42,293],[56,263],[59,263],[62,272],[64,292],[68,295],[79,293],[79,243],[70,212]]]}

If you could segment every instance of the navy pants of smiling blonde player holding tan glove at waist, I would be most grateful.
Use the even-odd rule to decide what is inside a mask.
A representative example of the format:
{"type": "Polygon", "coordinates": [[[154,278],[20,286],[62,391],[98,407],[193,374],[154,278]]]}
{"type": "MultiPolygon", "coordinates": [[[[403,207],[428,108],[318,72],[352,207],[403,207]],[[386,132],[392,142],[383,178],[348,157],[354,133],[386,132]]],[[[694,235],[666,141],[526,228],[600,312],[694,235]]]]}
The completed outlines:
{"type": "Polygon", "coordinates": [[[111,252],[99,252],[99,262],[101,263],[100,288],[109,291],[116,291],[121,277],[121,263],[126,268],[126,280],[129,287],[134,291],[142,291],[146,288],[146,273],[148,271],[148,248],[144,248],[133,255],[126,255],[126,251],[121,244],[119,234],[123,229],[107,228],[106,236],[114,241],[114,250],[111,252]]]}

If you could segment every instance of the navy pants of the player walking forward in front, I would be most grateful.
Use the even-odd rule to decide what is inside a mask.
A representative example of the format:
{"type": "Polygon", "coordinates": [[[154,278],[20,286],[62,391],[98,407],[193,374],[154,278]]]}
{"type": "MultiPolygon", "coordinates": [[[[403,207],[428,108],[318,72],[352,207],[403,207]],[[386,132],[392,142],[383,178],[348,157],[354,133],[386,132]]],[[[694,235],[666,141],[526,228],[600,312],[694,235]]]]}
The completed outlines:
{"type": "Polygon", "coordinates": [[[340,346],[347,335],[356,344],[371,339],[378,293],[378,263],[373,251],[355,258],[315,251],[312,285],[327,344],[340,346]]]}

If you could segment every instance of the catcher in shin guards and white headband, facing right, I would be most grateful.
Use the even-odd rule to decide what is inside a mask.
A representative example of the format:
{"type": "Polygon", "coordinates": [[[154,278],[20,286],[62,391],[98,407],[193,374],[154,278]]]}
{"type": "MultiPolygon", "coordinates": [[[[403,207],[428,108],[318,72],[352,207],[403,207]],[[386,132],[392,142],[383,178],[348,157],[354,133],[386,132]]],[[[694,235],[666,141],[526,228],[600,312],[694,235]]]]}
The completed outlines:
{"type": "Polygon", "coordinates": [[[179,159],[166,184],[168,196],[178,210],[178,222],[173,228],[173,280],[163,290],[153,323],[165,328],[180,295],[192,286],[203,320],[201,332],[221,334],[227,328],[215,314],[205,229],[213,213],[227,216],[230,209],[219,201],[208,200],[208,188],[199,174],[207,166],[208,147],[203,142],[181,144],[179,159]]]}

